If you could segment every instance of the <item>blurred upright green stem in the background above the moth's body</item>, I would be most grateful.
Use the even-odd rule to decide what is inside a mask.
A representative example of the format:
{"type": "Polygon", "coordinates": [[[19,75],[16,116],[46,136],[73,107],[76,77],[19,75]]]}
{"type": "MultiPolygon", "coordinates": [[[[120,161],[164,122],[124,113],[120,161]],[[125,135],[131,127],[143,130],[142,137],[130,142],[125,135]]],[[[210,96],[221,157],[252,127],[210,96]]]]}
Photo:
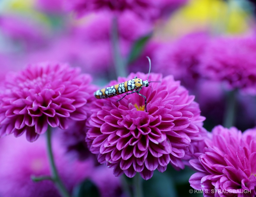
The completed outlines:
{"type": "Polygon", "coordinates": [[[116,76],[127,77],[126,65],[120,53],[120,47],[118,42],[118,24],[117,17],[114,16],[112,21],[112,30],[111,30],[111,41],[112,41],[112,54],[114,65],[116,69],[116,76]]]}

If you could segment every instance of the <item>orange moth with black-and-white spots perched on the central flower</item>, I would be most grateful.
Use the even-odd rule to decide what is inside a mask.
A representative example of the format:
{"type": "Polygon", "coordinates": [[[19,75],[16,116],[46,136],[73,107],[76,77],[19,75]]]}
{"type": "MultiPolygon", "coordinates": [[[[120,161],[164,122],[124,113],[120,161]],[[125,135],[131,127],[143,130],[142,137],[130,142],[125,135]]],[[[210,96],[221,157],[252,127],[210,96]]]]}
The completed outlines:
{"type": "MultiPolygon", "coordinates": [[[[148,77],[149,77],[149,73],[150,73],[150,69],[151,69],[151,61],[148,56],[147,56],[147,58],[149,61],[149,71],[148,71],[148,77]]],[[[129,81],[125,81],[120,84],[116,84],[116,85],[112,85],[107,88],[100,89],[100,90],[94,92],[94,96],[96,98],[110,98],[110,97],[113,97],[113,96],[116,96],[119,94],[123,94],[128,91],[132,91],[132,92],[126,93],[122,98],[118,99],[116,101],[116,102],[118,102],[118,101],[122,100],[126,95],[136,92],[137,94],[139,94],[140,96],[145,98],[145,110],[147,112],[147,98],[144,95],[140,94],[139,92],[143,87],[148,87],[149,83],[151,83],[151,82],[158,82],[158,81],[148,82],[148,78],[147,78],[147,80],[143,81],[140,78],[134,77],[133,79],[131,79],[129,81]]]]}

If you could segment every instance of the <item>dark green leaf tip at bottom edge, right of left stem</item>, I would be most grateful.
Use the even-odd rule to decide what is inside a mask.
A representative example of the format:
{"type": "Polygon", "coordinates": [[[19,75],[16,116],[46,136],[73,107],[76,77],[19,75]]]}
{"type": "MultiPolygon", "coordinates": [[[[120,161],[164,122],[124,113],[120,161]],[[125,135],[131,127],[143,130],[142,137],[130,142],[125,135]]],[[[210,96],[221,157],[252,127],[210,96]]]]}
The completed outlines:
{"type": "Polygon", "coordinates": [[[74,188],[72,197],[100,197],[100,193],[91,180],[85,179],[74,188]]]}

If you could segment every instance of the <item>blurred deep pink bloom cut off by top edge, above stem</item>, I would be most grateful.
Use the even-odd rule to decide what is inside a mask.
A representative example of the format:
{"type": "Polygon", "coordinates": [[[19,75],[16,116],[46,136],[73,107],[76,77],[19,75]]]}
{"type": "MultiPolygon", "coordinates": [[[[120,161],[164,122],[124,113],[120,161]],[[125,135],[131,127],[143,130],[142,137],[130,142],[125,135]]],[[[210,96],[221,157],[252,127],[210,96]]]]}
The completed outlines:
{"type": "Polygon", "coordinates": [[[74,10],[79,16],[92,11],[123,12],[131,10],[142,18],[156,19],[173,11],[187,0],[73,0],[66,2],[68,10],[74,10]]]}

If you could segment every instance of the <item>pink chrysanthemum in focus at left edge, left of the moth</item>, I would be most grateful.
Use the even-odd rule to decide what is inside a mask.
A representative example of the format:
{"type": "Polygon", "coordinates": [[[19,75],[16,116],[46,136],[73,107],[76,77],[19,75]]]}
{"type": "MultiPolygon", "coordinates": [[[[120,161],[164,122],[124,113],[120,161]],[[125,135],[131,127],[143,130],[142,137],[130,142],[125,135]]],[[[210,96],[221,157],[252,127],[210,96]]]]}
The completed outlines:
{"type": "Polygon", "coordinates": [[[95,90],[91,77],[64,64],[29,65],[7,77],[0,94],[0,135],[26,132],[35,141],[48,125],[68,128],[68,119],[87,118],[88,99],[95,90]]]}

